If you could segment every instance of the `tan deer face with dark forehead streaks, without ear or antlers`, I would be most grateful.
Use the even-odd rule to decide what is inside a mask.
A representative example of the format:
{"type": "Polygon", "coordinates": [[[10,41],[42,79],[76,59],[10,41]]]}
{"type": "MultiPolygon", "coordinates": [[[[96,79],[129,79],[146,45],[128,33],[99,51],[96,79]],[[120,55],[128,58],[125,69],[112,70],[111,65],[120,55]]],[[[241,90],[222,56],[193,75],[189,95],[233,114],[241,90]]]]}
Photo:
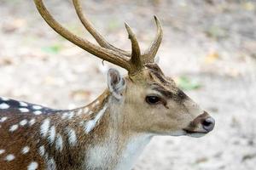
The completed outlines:
{"type": "Polygon", "coordinates": [[[138,133],[201,137],[214,127],[214,119],[177,88],[172,78],[165,77],[158,65],[146,65],[125,82],[116,82],[120,82],[119,99],[124,98],[119,104],[125,111],[124,121],[138,133]]]}

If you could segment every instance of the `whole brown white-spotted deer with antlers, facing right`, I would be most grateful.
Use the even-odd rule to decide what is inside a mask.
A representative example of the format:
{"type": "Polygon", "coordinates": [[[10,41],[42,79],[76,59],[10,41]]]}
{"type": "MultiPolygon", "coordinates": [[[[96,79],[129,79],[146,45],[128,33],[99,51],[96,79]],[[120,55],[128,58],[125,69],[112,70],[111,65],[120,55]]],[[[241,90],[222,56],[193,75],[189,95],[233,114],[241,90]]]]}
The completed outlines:
{"type": "Polygon", "coordinates": [[[61,26],[43,0],[34,0],[48,25],[90,54],[124,68],[108,70],[108,88],[89,105],[56,110],[0,98],[0,167],[3,170],[129,170],[154,136],[202,137],[215,121],[166,77],[155,56],[163,37],[157,34],[141,53],[137,37],[125,24],[131,51],[114,47],[85,17],[82,4],[73,6],[98,45],[61,26]]]}

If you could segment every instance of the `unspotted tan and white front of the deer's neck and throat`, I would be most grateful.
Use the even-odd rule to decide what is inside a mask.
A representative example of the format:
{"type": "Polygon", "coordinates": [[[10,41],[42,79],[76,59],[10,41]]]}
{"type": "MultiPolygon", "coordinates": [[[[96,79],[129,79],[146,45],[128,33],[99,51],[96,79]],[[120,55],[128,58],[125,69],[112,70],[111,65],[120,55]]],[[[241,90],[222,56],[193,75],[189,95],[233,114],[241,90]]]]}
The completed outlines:
{"type": "MultiPolygon", "coordinates": [[[[86,167],[131,169],[151,136],[131,131],[129,128],[131,122],[125,121],[125,99],[117,101],[110,94],[105,96],[105,99],[108,100],[105,103],[105,112],[95,131],[91,132],[91,138],[94,141],[90,144],[90,149],[86,150],[84,159],[86,167]],[[96,138],[98,136],[101,138],[96,138]]],[[[97,100],[101,101],[101,98],[97,100]]]]}

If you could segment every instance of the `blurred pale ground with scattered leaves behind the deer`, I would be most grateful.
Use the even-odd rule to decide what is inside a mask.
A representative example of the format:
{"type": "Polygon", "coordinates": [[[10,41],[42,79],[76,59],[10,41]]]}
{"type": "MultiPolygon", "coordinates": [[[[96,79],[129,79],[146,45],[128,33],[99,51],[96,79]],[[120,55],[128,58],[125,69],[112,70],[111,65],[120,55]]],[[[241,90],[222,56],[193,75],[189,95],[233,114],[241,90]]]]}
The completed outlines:
{"type": "MultiPolygon", "coordinates": [[[[70,0],[45,2],[70,31],[95,42],[70,0]]],[[[160,67],[216,119],[201,139],[155,137],[135,170],[256,168],[256,1],[84,0],[84,12],[127,50],[124,21],[145,49],[158,15],[160,67]]],[[[71,109],[107,88],[110,67],[51,30],[32,0],[0,0],[0,96],[71,109]]]]}

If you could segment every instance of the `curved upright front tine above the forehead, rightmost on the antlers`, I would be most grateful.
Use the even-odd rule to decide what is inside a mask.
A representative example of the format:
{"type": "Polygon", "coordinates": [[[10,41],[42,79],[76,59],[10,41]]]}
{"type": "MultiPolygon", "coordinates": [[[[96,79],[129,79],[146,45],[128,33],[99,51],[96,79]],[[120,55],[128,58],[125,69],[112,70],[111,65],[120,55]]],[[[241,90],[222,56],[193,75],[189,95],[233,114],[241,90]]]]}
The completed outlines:
{"type": "Polygon", "coordinates": [[[160,24],[160,20],[155,15],[154,15],[154,21],[155,21],[155,24],[157,27],[157,35],[154,38],[154,41],[152,42],[150,48],[148,48],[148,50],[145,52],[145,54],[143,54],[143,63],[154,62],[154,57],[155,57],[158,49],[160,48],[160,44],[162,42],[163,29],[160,24]]]}

